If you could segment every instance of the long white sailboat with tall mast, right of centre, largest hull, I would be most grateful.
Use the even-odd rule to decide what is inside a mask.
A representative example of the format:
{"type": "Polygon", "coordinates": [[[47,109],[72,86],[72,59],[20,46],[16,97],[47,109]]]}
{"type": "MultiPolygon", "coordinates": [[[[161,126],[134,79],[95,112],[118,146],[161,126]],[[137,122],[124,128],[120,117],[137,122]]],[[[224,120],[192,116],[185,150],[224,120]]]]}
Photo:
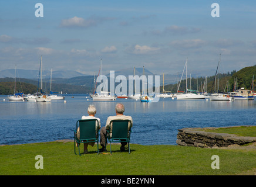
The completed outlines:
{"type": "MultiPolygon", "coordinates": [[[[183,73],[184,73],[185,67],[186,67],[186,93],[178,94],[178,89],[177,89],[176,98],[177,99],[205,99],[204,95],[188,92],[189,90],[187,89],[187,60],[183,69],[183,73]]],[[[181,75],[180,82],[182,80],[183,73],[181,75]]],[[[180,84],[178,85],[178,88],[180,88],[180,84]]]]}

